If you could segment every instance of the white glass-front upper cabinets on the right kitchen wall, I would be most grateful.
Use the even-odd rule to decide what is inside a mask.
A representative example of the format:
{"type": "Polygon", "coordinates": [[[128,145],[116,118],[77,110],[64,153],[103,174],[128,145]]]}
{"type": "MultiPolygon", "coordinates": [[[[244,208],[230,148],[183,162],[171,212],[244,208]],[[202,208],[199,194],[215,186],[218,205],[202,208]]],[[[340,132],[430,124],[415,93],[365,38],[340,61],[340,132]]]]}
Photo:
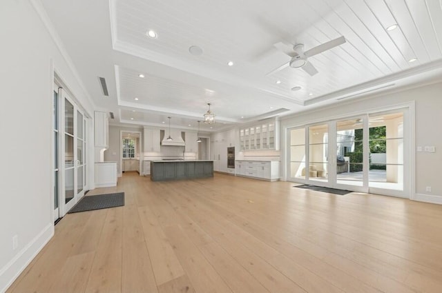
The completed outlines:
{"type": "Polygon", "coordinates": [[[270,119],[240,128],[240,150],[279,150],[279,125],[270,119]]]}

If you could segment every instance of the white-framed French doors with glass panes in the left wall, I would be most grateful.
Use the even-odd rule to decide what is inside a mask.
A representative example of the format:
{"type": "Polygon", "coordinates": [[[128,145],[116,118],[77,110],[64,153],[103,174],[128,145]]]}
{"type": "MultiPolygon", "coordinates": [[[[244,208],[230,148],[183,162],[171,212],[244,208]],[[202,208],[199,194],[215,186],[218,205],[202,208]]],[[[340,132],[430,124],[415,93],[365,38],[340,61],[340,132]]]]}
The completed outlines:
{"type": "Polygon", "coordinates": [[[54,219],[57,220],[84,196],[87,119],[68,93],[58,87],[54,88],[53,115],[54,219]]]}

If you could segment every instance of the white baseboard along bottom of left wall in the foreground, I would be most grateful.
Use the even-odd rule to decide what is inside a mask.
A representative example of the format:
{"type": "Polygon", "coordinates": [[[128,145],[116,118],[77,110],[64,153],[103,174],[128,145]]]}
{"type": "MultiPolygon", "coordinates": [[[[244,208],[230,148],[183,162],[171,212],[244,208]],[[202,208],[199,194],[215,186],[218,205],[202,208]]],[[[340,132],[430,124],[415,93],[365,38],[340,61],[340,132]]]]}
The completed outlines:
{"type": "Polygon", "coordinates": [[[14,283],[21,272],[26,269],[32,259],[43,249],[44,245],[54,235],[54,223],[49,223],[37,234],[22,250],[17,253],[5,266],[0,270],[0,292],[6,292],[8,287],[14,283]]]}

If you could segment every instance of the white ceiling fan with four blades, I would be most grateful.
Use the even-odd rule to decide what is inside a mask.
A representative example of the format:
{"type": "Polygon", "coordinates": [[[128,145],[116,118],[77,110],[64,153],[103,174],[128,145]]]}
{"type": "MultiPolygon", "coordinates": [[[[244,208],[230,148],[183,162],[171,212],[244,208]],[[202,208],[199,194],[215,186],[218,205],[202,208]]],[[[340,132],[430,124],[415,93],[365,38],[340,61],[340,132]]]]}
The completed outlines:
{"type": "Polygon", "coordinates": [[[318,73],[318,70],[316,70],[314,65],[308,61],[308,58],[330,50],[334,47],[340,46],[345,42],[345,37],[342,36],[332,41],[328,41],[327,43],[320,44],[319,46],[311,48],[310,50],[305,52],[304,45],[302,43],[298,43],[295,46],[285,42],[273,44],[274,47],[276,47],[281,52],[287,54],[289,57],[291,57],[291,59],[289,62],[284,63],[283,65],[276,68],[275,70],[272,70],[266,75],[273,74],[286,68],[287,66],[290,66],[291,68],[302,68],[302,70],[304,70],[311,76],[314,76],[316,73],[318,73]]]}

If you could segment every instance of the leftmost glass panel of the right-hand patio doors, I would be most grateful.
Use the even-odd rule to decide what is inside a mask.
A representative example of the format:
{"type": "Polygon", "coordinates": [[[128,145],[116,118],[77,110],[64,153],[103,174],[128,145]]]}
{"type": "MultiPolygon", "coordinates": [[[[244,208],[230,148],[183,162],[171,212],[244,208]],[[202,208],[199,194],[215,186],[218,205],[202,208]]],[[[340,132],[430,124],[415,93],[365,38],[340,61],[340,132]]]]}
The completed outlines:
{"type": "Polygon", "coordinates": [[[305,179],[305,128],[290,130],[290,177],[305,179]]]}

